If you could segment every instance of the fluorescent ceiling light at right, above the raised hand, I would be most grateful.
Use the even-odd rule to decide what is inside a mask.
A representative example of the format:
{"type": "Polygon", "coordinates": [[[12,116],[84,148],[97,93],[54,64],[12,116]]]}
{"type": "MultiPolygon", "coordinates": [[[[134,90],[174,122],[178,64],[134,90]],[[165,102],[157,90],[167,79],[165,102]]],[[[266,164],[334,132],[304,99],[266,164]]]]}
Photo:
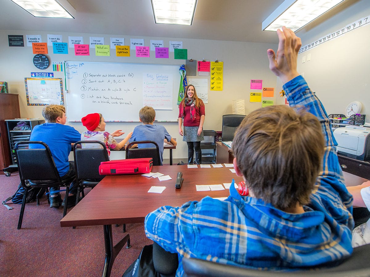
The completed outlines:
{"type": "Polygon", "coordinates": [[[285,0],[262,22],[262,30],[276,31],[285,26],[295,32],[343,1],[285,0]]]}

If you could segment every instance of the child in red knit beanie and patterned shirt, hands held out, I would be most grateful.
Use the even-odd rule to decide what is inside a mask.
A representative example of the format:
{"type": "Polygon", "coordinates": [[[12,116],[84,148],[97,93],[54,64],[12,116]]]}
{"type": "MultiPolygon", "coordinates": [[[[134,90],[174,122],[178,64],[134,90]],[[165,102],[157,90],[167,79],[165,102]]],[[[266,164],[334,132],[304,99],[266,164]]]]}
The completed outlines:
{"type": "MultiPolygon", "coordinates": [[[[113,137],[119,137],[124,134],[122,130],[116,130],[113,133],[105,131],[104,117],[101,113],[89,113],[82,119],[83,126],[86,127],[87,131],[81,134],[81,140],[98,140],[105,144],[108,150],[108,155],[111,154],[111,149],[120,150],[125,146],[127,141],[131,138],[132,132],[128,133],[127,137],[118,143],[113,137]]],[[[95,148],[99,147],[94,144],[83,144],[83,148],[95,148]]]]}

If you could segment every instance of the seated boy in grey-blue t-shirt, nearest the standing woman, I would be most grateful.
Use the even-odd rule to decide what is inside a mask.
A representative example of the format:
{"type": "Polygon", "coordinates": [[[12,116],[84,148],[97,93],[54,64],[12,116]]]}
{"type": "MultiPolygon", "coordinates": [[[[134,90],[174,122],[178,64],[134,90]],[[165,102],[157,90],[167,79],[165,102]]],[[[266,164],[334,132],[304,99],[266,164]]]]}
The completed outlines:
{"type": "MultiPolygon", "coordinates": [[[[155,125],[155,110],[152,107],[142,107],[139,111],[139,120],[144,125],[138,125],[132,132],[129,142],[152,140],[158,144],[159,155],[161,156],[161,164],[163,163],[163,148],[164,140],[167,140],[173,146],[177,142],[169,135],[166,128],[162,125],[155,125]]],[[[132,147],[138,146],[139,148],[153,147],[153,144],[135,144],[132,147]]]]}

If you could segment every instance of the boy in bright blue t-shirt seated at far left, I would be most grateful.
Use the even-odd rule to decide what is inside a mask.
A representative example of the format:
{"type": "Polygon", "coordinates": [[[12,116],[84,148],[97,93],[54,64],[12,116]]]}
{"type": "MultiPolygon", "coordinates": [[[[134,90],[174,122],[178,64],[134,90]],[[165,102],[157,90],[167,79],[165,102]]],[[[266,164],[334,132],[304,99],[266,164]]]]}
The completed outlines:
{"type": "MultiPolygon", "coordinates": [[[[42,111],[46,123],[37,125],[33,128],[30,140],[43,141],[50,148],[54,163],[62,179],[68,179],[74,176],[74,161],[68,161],[68,155],[71,152],[71,145],[81,139],[81,134],[71,126],[65,125],[67,117],[65,116],[65,107],[62,105],[48,105],[42,111]]],[[[40,144],[30,144],[30,148],[44,148],[40,144]]],[[[69,185],[69,184],[68,184],[69,185]]],[[[58,191],[59,188],[50,188],[50,208],[59,208],[65,205],[58,191]]],[[[68,194],[67,207],[75,205],[77,186],[73,181],[68,194]]]]}

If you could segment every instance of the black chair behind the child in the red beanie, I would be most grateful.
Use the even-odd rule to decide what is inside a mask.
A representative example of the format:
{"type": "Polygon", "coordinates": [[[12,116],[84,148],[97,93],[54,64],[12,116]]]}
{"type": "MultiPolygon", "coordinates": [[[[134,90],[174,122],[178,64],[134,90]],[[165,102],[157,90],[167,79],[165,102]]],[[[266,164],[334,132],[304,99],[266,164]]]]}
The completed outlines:
{"type": "Polygon", "coordinates": [[[104,178],[99,174],[99,165],[103,161],[109,161],[107,147],[98,140],[77,141],[73,146],[74,167],[76,182],[78,184],[76,204],[80,194],[85,196],[85,188],[93,188],[104,178]],[[95,144],[98,148],[78,148],[81,144],[95,144]]]}

